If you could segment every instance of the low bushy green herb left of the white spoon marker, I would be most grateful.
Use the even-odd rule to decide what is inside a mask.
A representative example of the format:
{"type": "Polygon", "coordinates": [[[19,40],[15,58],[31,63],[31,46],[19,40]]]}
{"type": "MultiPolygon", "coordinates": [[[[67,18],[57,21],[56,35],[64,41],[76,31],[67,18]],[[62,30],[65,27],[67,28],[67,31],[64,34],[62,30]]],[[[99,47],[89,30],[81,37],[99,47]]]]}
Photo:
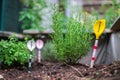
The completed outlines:
{"type": "Polygon", "coordinates": [[[29,59],[29,51],[26,42],[20,42],[13,36],[9,41],[0,41],[0,62],[7,66],[12,66],[15,62],[23,65],[29,59]]]}

